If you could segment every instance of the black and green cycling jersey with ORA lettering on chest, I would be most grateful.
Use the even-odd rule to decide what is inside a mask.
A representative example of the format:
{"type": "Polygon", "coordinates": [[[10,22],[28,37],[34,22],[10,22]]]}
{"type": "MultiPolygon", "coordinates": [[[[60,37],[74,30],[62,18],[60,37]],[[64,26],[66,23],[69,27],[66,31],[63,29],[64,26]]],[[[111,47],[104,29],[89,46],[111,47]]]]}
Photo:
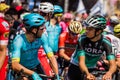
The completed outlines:
{"type": "Polygon", "coordinates": [[[106,53],[108,60],[114,59],[112,45],[109,40],[102,36],[99,41],[92,42],[86,36],[82,36],[79,38],[77,49],[72,55],[71,63],[78,65],[78,57],[85,56],[86,66],[93,68],[104,53],[106,53]]]}

